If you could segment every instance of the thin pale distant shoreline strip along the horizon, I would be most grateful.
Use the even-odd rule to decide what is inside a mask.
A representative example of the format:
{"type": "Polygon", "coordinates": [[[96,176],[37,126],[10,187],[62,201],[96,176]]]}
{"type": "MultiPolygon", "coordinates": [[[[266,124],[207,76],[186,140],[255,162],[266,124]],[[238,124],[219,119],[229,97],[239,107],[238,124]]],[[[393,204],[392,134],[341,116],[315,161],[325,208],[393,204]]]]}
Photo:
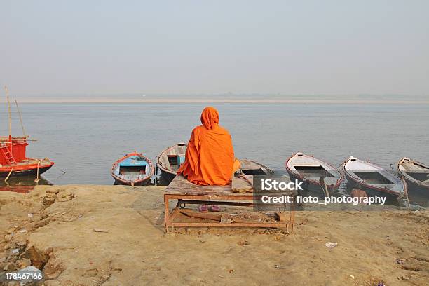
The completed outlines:
{"type": "Polygon", "coordinates": [[[315,99],[215,99],[215,98],[189,98],[189,99],[175,99],[175,98],[158,98],[158,99],[114,99],[114,98],[76,98],[76,99],[49,99],[41,98],[39,100],[34,99],[20,99],[20,103],[236,103],[236,104],[429,104],[429,100],[387,100],[387,99],[376,99],[376,100],[315,100],[315,99]]]}

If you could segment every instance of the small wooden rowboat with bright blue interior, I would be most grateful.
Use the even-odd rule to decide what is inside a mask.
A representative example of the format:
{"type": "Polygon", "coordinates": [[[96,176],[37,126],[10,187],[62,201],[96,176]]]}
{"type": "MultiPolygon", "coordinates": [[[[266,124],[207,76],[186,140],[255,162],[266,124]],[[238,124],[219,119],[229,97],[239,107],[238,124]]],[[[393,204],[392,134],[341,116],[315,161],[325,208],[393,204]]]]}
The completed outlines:
{"type": "Polygon", "coordinates": [[[114,163],[111,176],[115,184],[142,186],[150,182],[154,175],[154,165],[141,153],[130,153],[114,163]]]}

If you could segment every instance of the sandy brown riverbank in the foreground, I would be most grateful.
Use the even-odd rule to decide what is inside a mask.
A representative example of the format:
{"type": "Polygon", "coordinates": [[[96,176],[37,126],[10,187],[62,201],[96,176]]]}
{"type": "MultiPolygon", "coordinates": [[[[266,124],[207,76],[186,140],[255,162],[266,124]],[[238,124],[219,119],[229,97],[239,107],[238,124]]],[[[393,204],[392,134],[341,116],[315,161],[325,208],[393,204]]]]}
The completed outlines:
{"type": "Polygon", "coordinates": [[[292,235],[264,229],[165,234],[163,191],[37,186],[26,195],[0,192],[0,271],[33,264],[43,268],[45,285],[429,283],[428,211],[298,212],[292,235]],[[329,249],[328,241],[338,245],[329,249]]]}

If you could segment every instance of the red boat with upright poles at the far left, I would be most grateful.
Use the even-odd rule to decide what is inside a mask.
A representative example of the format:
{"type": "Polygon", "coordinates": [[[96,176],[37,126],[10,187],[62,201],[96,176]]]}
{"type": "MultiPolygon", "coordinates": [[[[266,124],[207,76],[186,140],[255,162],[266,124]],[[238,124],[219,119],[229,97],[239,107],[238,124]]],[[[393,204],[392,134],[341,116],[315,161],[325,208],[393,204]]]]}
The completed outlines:
{"type": "Polygon", "coordinates": [[[27,158],[25,149],[28,145],[28,136],[25,135],[24,126],[22,125],[21,112],[16,107],[20,115],[20,123],[22,126],[23,137],[12,137],[12,123],[11,123],[11,103],[9,102],[8,89],[6,90],[6,100],[8,103],[8,117],[9,117],[9,136],[0,137],[0,177],[15,177],[21,175],[34,175],[39,179],[39,175],[49,170],[54,165],[48,158],[36,159],[27,158]]]}

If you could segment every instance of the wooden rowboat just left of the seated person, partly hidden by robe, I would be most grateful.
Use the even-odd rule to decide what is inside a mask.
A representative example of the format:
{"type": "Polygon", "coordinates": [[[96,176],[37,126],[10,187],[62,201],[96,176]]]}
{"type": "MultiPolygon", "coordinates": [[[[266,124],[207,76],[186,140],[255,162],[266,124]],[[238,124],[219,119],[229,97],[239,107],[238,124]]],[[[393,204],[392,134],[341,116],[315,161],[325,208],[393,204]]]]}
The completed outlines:
{"type": "Polygon", "coordinates": [[[156,157],[156,164],[161,170],[161,176],[171,182],[176,177],[177,170],[180,165],[184,163],[186,143],[177,143],[171,147],[168,147],[156,157]]]}

